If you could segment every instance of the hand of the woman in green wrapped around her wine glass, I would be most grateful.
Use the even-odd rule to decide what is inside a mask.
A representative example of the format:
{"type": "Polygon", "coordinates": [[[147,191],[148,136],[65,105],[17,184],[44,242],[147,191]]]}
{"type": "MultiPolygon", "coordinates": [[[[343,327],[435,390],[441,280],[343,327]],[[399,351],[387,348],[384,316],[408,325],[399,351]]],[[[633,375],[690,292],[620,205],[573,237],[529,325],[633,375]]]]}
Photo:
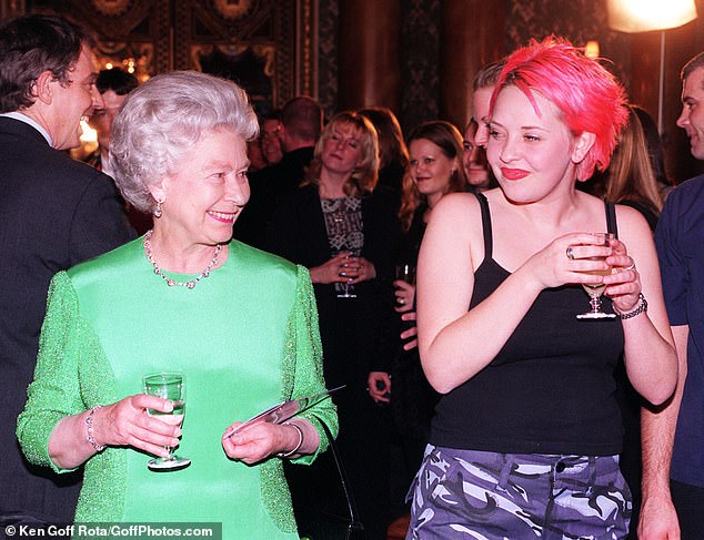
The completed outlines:
{"type": "Polygon", "coordinates": [[[173,405],[168,399],[138,394],[95,409],[93,412],[93,437],[104,446],[130,446],[154,456],[167,457],[167,446],[179,446],[181,428],[149,416],[147,409],[171,412],[173,405]]]}

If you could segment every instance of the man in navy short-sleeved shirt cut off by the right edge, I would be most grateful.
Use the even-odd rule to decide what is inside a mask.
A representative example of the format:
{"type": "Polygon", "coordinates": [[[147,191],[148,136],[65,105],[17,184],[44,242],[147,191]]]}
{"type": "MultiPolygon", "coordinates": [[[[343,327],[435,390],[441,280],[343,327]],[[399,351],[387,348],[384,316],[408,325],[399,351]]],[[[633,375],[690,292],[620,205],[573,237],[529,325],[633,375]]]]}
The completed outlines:
{"type": "MultiPolygon", "coordinates": [[[[682,69],[677,125],[704,160],[704,52],[682,69]]],[[[643,540],[704,538],[704,175],[675,187],[655,231],[665,303],[680,360],[673,399],[642,410],[643,540]]]]}

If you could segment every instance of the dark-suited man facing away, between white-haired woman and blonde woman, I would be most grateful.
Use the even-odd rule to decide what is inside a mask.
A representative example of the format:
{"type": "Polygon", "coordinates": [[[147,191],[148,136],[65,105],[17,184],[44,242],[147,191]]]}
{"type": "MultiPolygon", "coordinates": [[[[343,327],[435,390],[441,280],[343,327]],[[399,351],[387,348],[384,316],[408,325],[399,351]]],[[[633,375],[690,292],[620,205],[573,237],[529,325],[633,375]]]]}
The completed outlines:
{"type": "Polygon", "coordinates": [[[323,110],[306,96],[293,98],[281,110],[283,157],[250,174],[250,201],[234,224],[234,237],[254,247],[265,245],[265,232],[274,208],[301,183],[313,159],[323,129],[323,110]]]}

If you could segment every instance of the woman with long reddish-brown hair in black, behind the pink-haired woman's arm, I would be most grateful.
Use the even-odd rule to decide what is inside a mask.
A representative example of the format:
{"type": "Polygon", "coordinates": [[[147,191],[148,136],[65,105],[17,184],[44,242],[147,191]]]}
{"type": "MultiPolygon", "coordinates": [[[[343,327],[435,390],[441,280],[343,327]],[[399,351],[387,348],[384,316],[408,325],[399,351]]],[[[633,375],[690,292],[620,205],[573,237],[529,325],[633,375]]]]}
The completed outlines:
{"type": "MultiPolygon", "coordinates": [[[[430,421],[439,394],[430,386],[415,342],[415,265],[428,220],[435,204],[447,193],[465,192],[470,184],[463,167],[462,136],[449,122],[431,121],[415,128],[408,137],[410,162],[403,177],[399,211],[402,237],[399,243],[395,286],[396,313],[401,316],[401,343],[391,368],[391,410],[403,467],[394,478],[394,508],[403,501],[423,459],[430,421]],[[409,274],[402,272],[410,267],[409,274]]],[[[370,385],[372,396],[378,390],[370,385]]]]}

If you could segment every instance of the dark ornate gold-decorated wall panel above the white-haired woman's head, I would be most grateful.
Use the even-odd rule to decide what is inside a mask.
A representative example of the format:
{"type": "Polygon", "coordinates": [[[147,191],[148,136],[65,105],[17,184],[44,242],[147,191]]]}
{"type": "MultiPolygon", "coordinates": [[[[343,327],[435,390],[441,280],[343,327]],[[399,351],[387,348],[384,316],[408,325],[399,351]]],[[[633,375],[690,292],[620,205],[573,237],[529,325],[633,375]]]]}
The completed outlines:
{"type": "Polygon", "coordinates": [[[0,0],[0,16],[54,12],[97,37],[97,55],[145,80],[195,69],[231,78],[265,111],[315,96],[318,0],[0,0]]]}

